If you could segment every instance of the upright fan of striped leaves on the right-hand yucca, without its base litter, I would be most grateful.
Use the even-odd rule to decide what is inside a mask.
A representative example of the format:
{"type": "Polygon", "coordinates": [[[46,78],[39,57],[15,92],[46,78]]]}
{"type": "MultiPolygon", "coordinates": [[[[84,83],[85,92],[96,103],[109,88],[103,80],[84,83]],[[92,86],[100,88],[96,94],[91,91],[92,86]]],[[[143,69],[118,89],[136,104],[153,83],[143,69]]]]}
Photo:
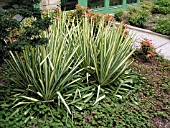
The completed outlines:
{"type": "Polygon", "coordinates": [[[81,66],[101,87],[111,85],[131,63],[128,58],[134,52],[132,36],[126,35],[122,24],[117,28],[114,23],[105,25],[103,20],[95,25],[87,18],[82,24],[76,26],[72,37],[80,45],[76,55],[84,56],[81,66]]]}

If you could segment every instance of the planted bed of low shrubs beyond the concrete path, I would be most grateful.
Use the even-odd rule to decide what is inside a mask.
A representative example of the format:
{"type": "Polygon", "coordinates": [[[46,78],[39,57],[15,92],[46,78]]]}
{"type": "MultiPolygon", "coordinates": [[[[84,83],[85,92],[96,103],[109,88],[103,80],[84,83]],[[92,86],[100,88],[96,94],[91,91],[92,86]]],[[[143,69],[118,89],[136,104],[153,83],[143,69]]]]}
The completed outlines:
{"type": "Polygon", "coordinates": [[[170,36],[170,2],[141,2],[139,7],[127,7],[115,13],[117,21],[170,36]]]}

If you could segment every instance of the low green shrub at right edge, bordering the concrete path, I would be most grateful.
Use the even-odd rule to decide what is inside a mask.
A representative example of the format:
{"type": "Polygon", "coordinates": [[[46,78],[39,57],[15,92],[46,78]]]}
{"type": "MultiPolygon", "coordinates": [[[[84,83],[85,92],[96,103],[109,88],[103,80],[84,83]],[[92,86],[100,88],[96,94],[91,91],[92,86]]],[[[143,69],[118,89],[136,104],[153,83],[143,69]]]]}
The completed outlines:
{"type": "Polygon", "coordinates": [[[168,18],[154,19],[156,25],[153,31],[170,36],[170,16],[168,18]]]}

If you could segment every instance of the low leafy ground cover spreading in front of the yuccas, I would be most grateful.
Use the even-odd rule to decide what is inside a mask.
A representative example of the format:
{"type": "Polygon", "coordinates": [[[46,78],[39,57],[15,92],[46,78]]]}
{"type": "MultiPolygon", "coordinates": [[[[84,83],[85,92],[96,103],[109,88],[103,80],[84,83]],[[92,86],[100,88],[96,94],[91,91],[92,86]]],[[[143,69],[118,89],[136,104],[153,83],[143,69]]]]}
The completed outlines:
{"type": "MultiPolygon", "coordinates": [[[[142,82],[140,76],[131,72],[134,74],[132,76],[136,77],[133,83],[139,88],[122,100],[106,97],[93,107],[86,104],[84,111],[76,109],[72,111],[73,119],[68,117],[62,108],[50,111],[48,104],[37,103],[29,113],[26,113],[27,107],[25,107],[25,110],[15,113],[8,121],[5,119],[9,118],[16,109],[9,108],[8,104],[1,104],[0,116],[3,118],[0,120],[0,125],[1,127],[25,127],[26,124],[28,127],[72,127],[73,124],[77,127],[169,127],[170,62],[161,57],[157,57],[151,62],[143,62],[140,58],[135,58],[131,69],[145,79],[142,82]],[[141,86],[138,86],[139,84],[141,86]],[[32,118],[25,123],[29,114],[32,115],[32,118]]],[[[5,74],[7,71],[5,69],[6,65],[1,66],[0,94],[2,94],[3,83],[8,83],[7,77],[11,73],[9,70],[5,74]]],[[[5,94],[7,95],[7,93],[5,94]]],[[[3,96],[3,98],[5,97],[3,96]]],[[[1,103],[3,98],[1,95],[1,103]]]]}

